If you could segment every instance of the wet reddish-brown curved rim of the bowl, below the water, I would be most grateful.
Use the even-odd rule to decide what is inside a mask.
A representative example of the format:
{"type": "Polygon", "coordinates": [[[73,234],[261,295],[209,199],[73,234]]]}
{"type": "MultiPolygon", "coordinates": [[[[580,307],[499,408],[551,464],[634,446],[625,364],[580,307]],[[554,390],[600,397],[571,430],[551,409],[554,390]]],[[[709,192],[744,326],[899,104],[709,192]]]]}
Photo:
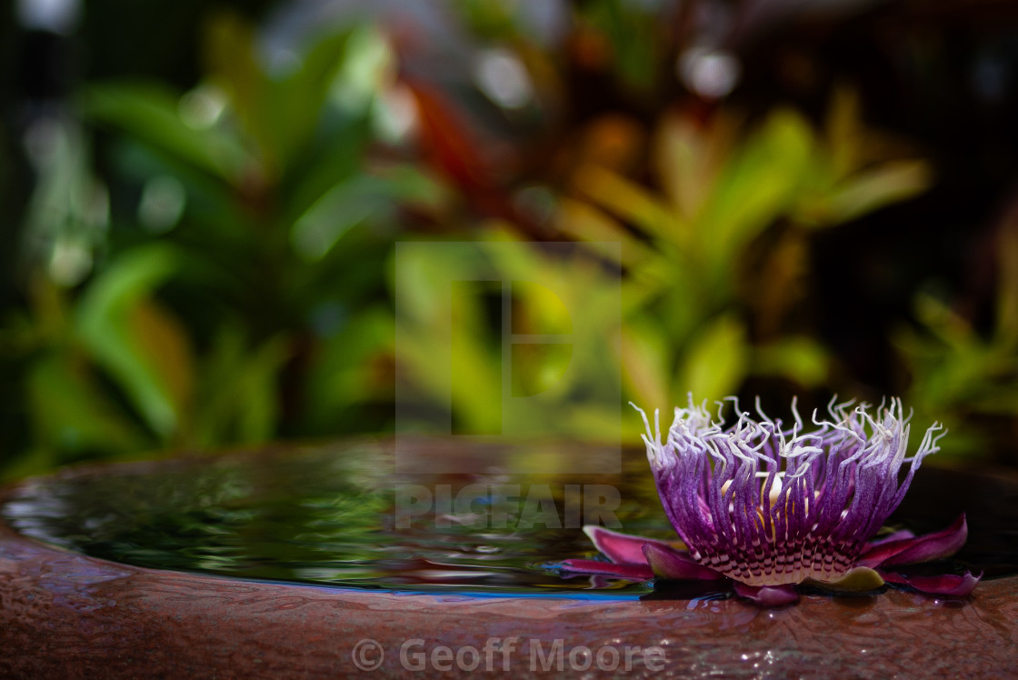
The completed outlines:
{"type": "Polygon", "coordinates": [[[963,601],[891,588],[777,610],[406,593],[116,564],[0,521],[0,648],[2,677],[999,677],[1018,669],[1018,577],[963,601]]]}

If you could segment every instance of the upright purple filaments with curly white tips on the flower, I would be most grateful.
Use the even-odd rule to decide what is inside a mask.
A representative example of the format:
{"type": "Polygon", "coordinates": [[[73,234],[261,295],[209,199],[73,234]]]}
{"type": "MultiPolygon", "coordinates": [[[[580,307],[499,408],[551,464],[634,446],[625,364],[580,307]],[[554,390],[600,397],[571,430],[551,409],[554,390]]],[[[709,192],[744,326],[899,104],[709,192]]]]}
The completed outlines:
{"type": "MultiPolygon", "coordinates": [[[[813,411],[805,432],[796,402],[794,423],[782,428],[757,399],[755,420],[738,400],[718,402],[718,420],[690,397],[662,443],[640,410],[643,441],[669,519],[694,559],[747,585],[830,581],[852,567],[865,541],[898,506],[922,458],[937,449],[935,424],[919,451],[905,457],[909,427],[901,401],[875,416],[865,404],[828,405],[830,419],[813,411]],[[736,421],[721,426],[732,402],[736,421]],[[897,472],[910,464],[900,488],[897,472]]],[[[635,407],[635,406],[634,406],[635,407]]],[[[637,410],[639,410],[637,408],[637,410]]]]}

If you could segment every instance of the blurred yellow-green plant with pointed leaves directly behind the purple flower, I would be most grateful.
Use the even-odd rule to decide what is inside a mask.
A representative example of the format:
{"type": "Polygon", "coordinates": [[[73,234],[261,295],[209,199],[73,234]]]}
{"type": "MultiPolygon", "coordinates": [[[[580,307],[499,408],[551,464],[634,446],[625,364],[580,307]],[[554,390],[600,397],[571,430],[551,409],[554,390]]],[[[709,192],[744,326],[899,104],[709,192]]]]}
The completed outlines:
{"type": "Polygon", "coordinates": [[[623,244],[630,394],[655,405],[687,392],[713,401],[753,374],[826,385],[834,358],[823,342],[786,330],[806,285],[805,241],[921,191],[926,165],[889,158],[846,93],[824,133],[788,109],[756,124],[672,115],[652,146],[663,195],[590,164],[573,180],[582,200],[560,214],[573,238],[623,244]]]}

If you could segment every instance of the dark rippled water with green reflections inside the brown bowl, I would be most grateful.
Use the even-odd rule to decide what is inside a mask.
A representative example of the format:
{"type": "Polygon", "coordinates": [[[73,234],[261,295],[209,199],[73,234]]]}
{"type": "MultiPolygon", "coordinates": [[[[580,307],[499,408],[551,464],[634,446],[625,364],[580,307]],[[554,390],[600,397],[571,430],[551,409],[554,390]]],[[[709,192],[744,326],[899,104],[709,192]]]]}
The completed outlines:
{"type": "MultiPolygon", "coordinates": [[[[418,470],[430,460],[441,468],[450,454],[421,452],[418,470]]],[[[486,454],[476,474],[399,474],[391,445],[367,441],[72,470],[22,484],[0,515],[46,543],[142,567],[407,591],[652,592],[552,566],[595,555],[579,528],[584,514],[674,537],[641,452],[618,454],[621,469],[610,474],[572,472],[588,459],[577,448],[486,454]]],[[[943,528],[960,505],[970,540],[951,567],[1015,573],[1015,486],[1000,483],[996,500],[966,495],[972,485],[957,474],[920,471],[895,524],[943,528]]]]}

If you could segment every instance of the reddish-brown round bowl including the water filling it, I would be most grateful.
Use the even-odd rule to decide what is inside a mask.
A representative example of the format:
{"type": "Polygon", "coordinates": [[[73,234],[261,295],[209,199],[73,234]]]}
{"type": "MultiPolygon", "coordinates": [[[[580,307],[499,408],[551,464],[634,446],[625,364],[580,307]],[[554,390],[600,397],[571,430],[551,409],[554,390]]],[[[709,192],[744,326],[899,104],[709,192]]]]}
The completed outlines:
{"type": "Polygon", "coordinates": [[[421,440],[68,469],[0,496],[0,677],[1003,677],[1018,672],[1018,478],[926,464],[896,526],[968,517],[965,599],[890,585],[766,609],[570,575],[614,516],[668,535],[642,451],[421,440]],[[472,456],[478,472],[445,473],[472,456]],[[527,474],[519,460],[528,461],[527,474]],[[533,461],[541,461],[538,465],[533,461]],[[404,461],[405,462],[405,461],[404,461]],[[447,463],[447,464],[446,464],[447,463]],[[438,470],[421,472],[420,470],[438,470]],[[614,490],[614,492],[613,492],[614,490]]]}

